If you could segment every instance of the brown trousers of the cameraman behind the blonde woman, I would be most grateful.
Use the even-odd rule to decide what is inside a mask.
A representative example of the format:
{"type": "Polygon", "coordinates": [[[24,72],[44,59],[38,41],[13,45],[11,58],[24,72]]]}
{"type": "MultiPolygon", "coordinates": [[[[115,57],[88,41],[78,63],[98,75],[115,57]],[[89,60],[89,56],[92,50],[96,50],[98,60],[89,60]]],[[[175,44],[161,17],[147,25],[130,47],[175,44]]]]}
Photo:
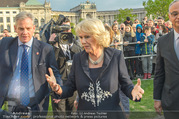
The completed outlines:
{"type": "MultiPolygon", "coordinates": [[[[63,84],[66,83],[66,80],[63,80],[63,84]]],[[[53,109],[53,115],[54,118],[60,115],[71,115],[71,112],[75,112],[77,109],[74,107],[74,101],[77,97],[77,91],[74,92],[72,97],[61,99],[58,104],[53,102],[53,99],[55,99],[53,96],[51,96],[52,100],[52,109],[53,109]]],[[[65,119],[65,118],[64,118],[65,119]]]]}

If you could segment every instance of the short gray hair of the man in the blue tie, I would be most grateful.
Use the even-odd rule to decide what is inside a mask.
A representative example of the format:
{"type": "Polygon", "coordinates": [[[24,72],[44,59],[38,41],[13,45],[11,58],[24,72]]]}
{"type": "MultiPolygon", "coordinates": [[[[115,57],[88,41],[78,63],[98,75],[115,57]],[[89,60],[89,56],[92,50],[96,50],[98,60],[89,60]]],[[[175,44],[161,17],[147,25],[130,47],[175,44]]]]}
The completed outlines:
{"type": "Polygon", "coordinates": [[[17,24],[18,20],[24,20],[26,18],[30,18],[34,22],[34,16],[29,12],[23,11],[16,15],[15,24],[17,24]]]}

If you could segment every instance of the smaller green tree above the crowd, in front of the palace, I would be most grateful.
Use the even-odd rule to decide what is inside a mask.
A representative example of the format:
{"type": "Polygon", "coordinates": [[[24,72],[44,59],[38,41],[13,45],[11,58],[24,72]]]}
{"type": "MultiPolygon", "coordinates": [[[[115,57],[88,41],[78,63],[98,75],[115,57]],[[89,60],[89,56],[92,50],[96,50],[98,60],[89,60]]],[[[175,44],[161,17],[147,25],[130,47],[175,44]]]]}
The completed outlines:
{"type": "Polygon", "coordinates": [[[123,23],[126,20],[126,17],[130,17],[133,21],[137,15],[132,14],[133,9],[119,9],[119,14],[116,16],[118,23],[123,23]]]}

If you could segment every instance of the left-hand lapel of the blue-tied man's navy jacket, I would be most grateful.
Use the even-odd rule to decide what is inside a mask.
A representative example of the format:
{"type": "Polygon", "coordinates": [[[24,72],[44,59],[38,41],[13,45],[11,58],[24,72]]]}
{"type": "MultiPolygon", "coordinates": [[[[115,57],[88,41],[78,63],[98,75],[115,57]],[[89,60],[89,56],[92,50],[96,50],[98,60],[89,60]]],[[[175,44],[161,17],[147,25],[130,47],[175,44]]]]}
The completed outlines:
{"type": "Polygon", "coordinates": [[[10,45],[10,48],[9,48],[9,56],[10,56],[10,62],[11,62],[13,72],[15,71],[15,68],[16,68],[17,52],[18,52],[18,38],[16,37],[12,41],[12,44],[10,45]]]}

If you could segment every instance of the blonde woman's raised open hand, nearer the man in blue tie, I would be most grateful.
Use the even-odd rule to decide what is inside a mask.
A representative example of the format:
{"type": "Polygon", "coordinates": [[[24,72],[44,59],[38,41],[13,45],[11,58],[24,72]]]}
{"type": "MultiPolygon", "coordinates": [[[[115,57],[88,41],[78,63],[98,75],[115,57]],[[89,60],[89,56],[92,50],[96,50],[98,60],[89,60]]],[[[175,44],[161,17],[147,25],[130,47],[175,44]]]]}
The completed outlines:
{"type": "Polygon", "coordinates": [[[56,82],[56,78],[55,78],[55,76],[54,76],[54,74],[53,74],[52,68],[48,68],[48,71],[49,71],[49,73],[50,73],[50,76],[49,76],[48,74],[45,75],[45,77],[46,77],[46,79],[47,79],[47,82],[49,83],[51,89],[52,89],[55,93],[61,95],[61,94],[62,94],[62,89],[61,89],[60,85],[57,84],[57,82],[56,82]]]}

